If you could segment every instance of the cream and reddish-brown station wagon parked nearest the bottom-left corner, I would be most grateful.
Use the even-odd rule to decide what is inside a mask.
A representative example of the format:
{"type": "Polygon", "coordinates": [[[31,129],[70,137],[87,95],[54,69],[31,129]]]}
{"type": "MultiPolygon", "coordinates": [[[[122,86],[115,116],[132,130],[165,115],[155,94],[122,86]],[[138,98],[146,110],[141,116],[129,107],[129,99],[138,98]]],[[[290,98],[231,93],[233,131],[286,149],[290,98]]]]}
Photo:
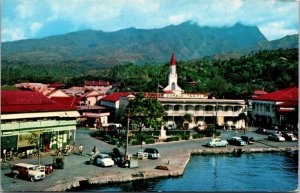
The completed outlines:
{"type": "Polygon", "coordinates": [[[17,163],[13,165],[11,175],[14,178],[26,178],[34,182],[37,180],[43,180],[45,178],[45,171],[37,169],[36,165],[17,163]]]}

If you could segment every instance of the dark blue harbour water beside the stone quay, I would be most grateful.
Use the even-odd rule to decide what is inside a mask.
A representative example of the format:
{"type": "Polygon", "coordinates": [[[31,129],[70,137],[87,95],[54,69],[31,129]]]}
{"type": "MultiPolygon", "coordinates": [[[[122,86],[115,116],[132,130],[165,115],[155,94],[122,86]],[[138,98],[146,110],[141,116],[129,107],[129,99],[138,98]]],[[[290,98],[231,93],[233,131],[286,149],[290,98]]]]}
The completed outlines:
{"type": "Polygon", "coordinates": [[[81,191],[286,192],[298,188],[298,163],[279,153],[192,156],[179,178],[139,180],[81,191]]]}

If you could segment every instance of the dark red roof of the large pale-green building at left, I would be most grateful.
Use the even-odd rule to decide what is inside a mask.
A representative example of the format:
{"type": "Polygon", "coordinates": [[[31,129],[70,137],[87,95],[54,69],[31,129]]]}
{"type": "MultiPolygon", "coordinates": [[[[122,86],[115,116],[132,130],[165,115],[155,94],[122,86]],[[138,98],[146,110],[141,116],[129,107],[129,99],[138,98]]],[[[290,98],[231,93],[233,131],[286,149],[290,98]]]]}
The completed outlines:
{"type": "Polygon", "coordinates": [[[74,110],[74,107],[55,103],[36,91],[1,91],[1,113],[47,112],[74,110]]]}

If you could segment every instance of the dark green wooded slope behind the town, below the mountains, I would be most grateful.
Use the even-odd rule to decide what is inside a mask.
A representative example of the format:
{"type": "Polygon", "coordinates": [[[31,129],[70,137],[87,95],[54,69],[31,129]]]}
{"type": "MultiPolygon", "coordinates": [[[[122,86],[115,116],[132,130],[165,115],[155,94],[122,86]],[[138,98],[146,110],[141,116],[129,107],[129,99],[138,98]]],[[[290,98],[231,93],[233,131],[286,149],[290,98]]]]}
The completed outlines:
{"type": "MultiPolygon", "coordinates": [[[[84,80],[119,82],[119,91],[157,92],[157,85],[168,84],[169,63],[132,63],[103,69],[77,62],[2,66],[2,85],[18,82],[61,82],[66,87],[82,86],[84,80]]],[[[210,93],[218,98],[251,96],[254,89],[268,92],[298,85],[298,49],[259,51],[236,59],[177,61],[178,85],[185,92],[210,93]],[[196,85],[190,84],[196,82],[196,85]]],[[[160,92],[162,92],[160,90],[160,92]]]]}

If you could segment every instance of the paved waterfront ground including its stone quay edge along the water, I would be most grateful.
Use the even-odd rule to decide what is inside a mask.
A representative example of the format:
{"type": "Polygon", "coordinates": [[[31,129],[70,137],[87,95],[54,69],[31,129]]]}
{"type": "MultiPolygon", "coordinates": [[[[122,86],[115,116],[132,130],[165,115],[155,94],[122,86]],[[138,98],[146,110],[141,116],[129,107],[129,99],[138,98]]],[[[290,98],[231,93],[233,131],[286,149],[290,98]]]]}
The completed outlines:
{"type": "MultiPolygon", "coordinates": [[[[159,177],[177,177],[184,174],[186,165],[192,154],[225,154],[232,153],[234,149],[242,148],[243,153],[251,152],[278,152],[288,150],[298,150],[298,142],[275,142],[267,140],[267,135],[261,135],[247,131],[256,142],[247,146],[232,146],[209,148],[203,144],[209,138],[193,139],[188,141],[156,143],[143,145],[145,147],[155,147],[159,150],[161,157],[157,160],[138,160],[137,168],[121,168],[117,165],[112,167],[99,167],[87,164],[89,154],[96,145],[100,152],[109,153],[116,146],[109,145],[91,136],[94,130],[78,129],[76,131],[76,144],[83,144],[84,154],[79,155],[75,150],[70,156],[65,157],[64,169],[55,169],[53,173],[46,175],[45,179],[37,182],[30,182],[24,179],[14,179],[10,176],[10,167],[14,163],[26,162],[37,164],[37,158],[19,159],[2,163],[1,169],[1,191],[68,191],[80,186],[93,184],[107,184],[117,182],[127,182],[139,179],[150,179],[159,177]],[[168,170],[156,169],[157,166],[164,166],[168,170]]],[[[243,131],[238,131],[238,136],[243,135],[243,131]]],[[[222,131],[220,138],[229,139],[235,136],[234,131],[222,131]]],[[[136,153],[140,146],[129,146],[129,154],[136,153]]],[[[125,149],[120,147],[120,151],[125,149]]],[[[41,157],[41,164],[52,163],[53,157],[49,154],[41,157]]],[[[238,160],[237,160],[238,161],[238,160]]]]}

